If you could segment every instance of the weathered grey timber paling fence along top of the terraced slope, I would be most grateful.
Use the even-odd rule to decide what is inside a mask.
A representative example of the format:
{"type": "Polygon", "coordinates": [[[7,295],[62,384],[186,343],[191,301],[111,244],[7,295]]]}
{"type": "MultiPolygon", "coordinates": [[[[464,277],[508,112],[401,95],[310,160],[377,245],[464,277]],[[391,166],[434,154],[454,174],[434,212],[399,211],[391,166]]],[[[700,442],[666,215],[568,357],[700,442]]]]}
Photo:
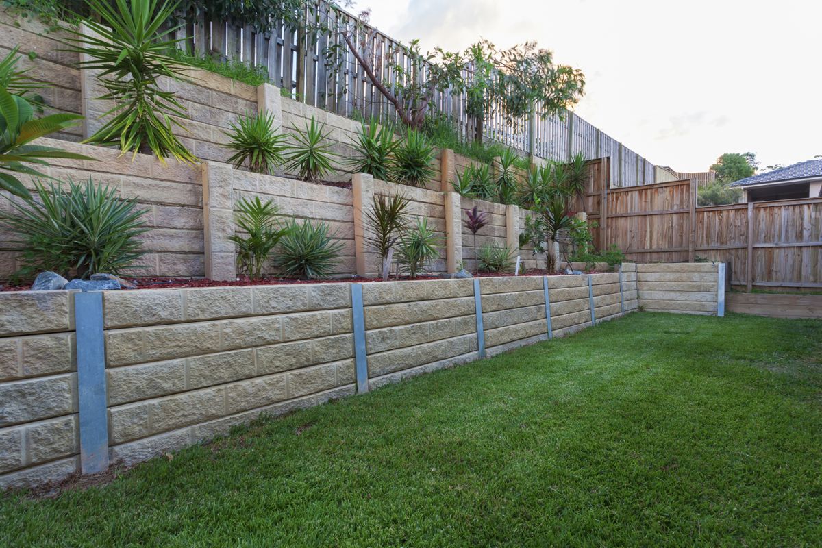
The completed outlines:
{"type": "MultiPolygon", "coordinates": [[[[358,27],[356,17],[330,7],[325,0],[315,2],[302,17],[319,23],[322,30],[297,32],[279,22],[270,33],[261,33],[251,26],[211,21],[201,16],[189,19],[178,38],[185,39],[180,43],[181,48],[192,48],[198,55],[216,54],[265,68],[273,84],[305,104],[347,117],[396,120],[394,106],[372,85],[345,44],[344,31],[351,29],[355,43],[367,44],[374,70],[389,87],[401,83],[390,70],[390,61],[404,67],[407,75],[413,75],[406,77],[424,80],[426,71],[423,69],[422,74],[413,71],[412,59],[395,39],[369,26],[358,27]]],[[[435,91],[431,108],[450,117],[461,135],[468,139],[473,136],[475,123],[466,112],[465,104],[464,92],[435,91]]],[[[483,122],[483,134],[544,159],[566,161],[577,153],[587,159],[610,157],[610,180],[616,187],[654,182],[653,163],[574,113],[543,117],[538,109],[533,124],[522,120],[514,126],[506,123],[501,114],[491,113],[483,122]],[[533,140],[530,131],[533,131],[533,140]]]]}

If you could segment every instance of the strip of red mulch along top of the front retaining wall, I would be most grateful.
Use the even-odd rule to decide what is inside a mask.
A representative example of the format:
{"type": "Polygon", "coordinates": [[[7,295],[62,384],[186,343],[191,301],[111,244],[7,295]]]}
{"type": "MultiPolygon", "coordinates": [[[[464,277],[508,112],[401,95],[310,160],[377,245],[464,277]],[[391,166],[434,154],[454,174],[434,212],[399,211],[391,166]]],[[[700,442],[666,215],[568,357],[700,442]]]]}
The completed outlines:
{"type": "MultiPolygon", "coordinates": [[[[474,274],[479,278],[507,278],[514,275],[513,272],[481,272],[474,274]]],[[[597,274],[595,270],[586,270],[585,274],[597,274]]],[[[527,272],[520,273],[520,276],[564,276],[566,274],[549,273],[545,269],[530,269],[527,272]]],[[[360,278],[358,276],[349,276],[348,278],[335,279],[293,279],[293,278],[261,278],[261,279],[237,279],[233,281],[219,282],[207,278],[126,278],[127,280],[136,283],[138,289],[164,289],[164,288],[229,288],[232,286],[242,285],[289,285],[298,283],[348,283],[348,282],[381,282],[381,278],[360,278]]],[[[409,280],[408,276],[390,276],[389,282],[409,280]]],[[[423,275],[416,279],[442,279],[441,276],[423,275]]],[[[30,284],[16,285],[16,286],[0,286],[0,292],[5,291],[28,291],[31,288],[30,284]]]]}

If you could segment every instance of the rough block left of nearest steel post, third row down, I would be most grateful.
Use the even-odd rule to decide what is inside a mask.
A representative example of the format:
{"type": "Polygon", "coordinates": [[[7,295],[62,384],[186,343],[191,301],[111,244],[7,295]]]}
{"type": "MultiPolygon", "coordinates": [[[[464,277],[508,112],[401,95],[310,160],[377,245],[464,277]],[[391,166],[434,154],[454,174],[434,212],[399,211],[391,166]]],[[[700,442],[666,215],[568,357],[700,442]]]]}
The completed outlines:
{"type": "Polygon", "coordinates": [[[76,412],[76,373],[0,385],[0,427],[76,412]]]}

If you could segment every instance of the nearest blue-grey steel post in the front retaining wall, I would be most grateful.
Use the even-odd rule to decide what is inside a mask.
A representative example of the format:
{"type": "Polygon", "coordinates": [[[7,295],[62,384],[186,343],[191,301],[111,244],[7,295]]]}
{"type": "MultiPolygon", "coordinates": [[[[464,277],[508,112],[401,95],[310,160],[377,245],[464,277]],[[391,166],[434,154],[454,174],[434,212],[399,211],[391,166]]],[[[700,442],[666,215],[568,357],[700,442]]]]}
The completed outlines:
{"type": "Polygon", "coordinates": [[[103,334],[103,293],[74,295],[80,466],[83,474],[109,467],[109,417],[103,334]]]}

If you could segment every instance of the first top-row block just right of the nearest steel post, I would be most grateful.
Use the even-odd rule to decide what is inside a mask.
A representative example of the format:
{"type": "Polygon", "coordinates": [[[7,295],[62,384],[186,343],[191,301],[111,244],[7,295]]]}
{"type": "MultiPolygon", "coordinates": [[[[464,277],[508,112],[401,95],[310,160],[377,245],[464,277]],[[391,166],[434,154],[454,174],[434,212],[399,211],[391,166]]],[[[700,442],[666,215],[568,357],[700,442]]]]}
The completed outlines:
{"type": "Polygon", "coordinates": [[[173,324],[184,319],[179,289],[137,289],[103,293],[106,329],[173,324]]]}

